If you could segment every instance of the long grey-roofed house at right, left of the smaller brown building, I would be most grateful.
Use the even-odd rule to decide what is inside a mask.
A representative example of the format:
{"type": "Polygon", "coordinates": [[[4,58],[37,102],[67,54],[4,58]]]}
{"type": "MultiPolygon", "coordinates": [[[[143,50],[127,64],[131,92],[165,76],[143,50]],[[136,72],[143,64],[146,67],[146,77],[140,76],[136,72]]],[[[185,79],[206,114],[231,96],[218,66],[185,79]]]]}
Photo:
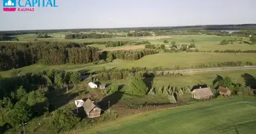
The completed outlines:
{"type": "Polygon", "coordinates": [[[201,86],[199,88],[194,89],[191,92],[191,94],[192,94],[192,98],[196,98],[196,99],[212,98],[212,96],[214,96],[210,88],[208,87],[201,88],[201,86]]]}

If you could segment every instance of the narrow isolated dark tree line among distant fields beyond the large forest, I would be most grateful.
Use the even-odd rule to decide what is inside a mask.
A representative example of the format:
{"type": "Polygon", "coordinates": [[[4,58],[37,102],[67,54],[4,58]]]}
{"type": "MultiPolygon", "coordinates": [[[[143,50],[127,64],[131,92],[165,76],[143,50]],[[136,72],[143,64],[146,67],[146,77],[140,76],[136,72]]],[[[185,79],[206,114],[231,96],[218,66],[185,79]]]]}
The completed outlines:
{"type": "Polygon", "coordinates": [[[65,39],[86,39],[86,38],[112,38],[110,34],[67,34],[65,35],[65,39]]]}

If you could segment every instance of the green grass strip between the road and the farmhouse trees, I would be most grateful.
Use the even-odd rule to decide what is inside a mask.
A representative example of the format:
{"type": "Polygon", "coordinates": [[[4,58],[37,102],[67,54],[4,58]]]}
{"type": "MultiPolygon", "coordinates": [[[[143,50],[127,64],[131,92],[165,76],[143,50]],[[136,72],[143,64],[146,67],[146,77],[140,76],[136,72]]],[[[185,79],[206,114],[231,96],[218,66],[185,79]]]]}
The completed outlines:
{"type": "MultiPolygon", "coordinates": [[[[213,72],[195,72],[195,73],[183,73],[183,76],[179,77],[155,77],[155,78],[146,78],[144,80],[146,84],[151,85],[153,81],[153,85],[156,88],[160,86],[177,86],[178,88],[184,86],[194,86],[196,84],[207,84],[212,85],[212,82],[216,78],[217,75],[222,77],[229,76],[232,79],[232,82],[237,82],[241,84],[245,84],[245,79],[241,77],[242,74],[251,74],[252,76],[256,76],[256,70],[225,70],[225,71],[213,71],[213,72]]],[[[121,85],[127,84],[127,80],[107,80],[102,81],[103,83],[111,83],[113,85],[121,85]]]]}

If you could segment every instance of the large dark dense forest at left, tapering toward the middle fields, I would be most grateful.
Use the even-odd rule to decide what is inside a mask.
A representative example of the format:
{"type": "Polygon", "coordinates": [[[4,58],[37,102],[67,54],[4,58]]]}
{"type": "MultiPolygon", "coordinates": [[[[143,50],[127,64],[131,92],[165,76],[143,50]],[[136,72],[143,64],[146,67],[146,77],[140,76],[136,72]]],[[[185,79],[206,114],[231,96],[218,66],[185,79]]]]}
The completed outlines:
{"type": "Polygon", "coordinates": [[[86,64],[107,60],[112,62],[116,58],[123,60],[138,60],[143,56],[156,54],[155,50],[98,52],[98,48],[87,44],[65,42],[29,42],[29,43],[1,43],[0,70],[22,68],[31,64],[86,64]]]}

